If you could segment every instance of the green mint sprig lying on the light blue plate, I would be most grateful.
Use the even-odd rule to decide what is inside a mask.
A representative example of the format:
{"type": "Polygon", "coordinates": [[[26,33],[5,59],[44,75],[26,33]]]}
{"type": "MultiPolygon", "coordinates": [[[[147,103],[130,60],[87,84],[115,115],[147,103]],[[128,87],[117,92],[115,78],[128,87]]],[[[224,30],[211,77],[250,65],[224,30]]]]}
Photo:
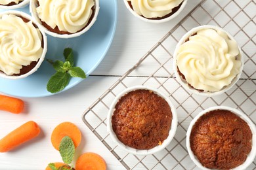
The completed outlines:
{"type": "Polygon", "coordinates": [[[65,48],[63,55],[65,61],[53,61],[47,59],[56,70],[56,73],[51,76],[47,83],[47,90],[51,93],[57,93],[63,90],[70,82],[71,77],[86,78],[83,69],[74,67],[74,54],[72,48],[65,48]]]}

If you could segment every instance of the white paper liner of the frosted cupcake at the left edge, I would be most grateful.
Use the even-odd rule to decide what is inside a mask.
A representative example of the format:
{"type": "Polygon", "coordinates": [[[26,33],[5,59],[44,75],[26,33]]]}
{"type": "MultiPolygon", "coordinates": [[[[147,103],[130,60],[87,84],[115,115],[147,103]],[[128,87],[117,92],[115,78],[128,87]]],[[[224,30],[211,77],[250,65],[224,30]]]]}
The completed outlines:
{"type": "Polygon", "coordinates": [[[25,12],[20,12],[18,10],[7,10],[5,12],[0,13],[0,18],[3,16],[3,14],[14,14],[16,16],[22,16],[28,20],[31,20],[33,22],[33,24],[37,25],[39,31],[41,32],[41,35],[43,38],[43,53],[41,55],[41,58],[37,61],[37,65],[35,65],[35,67],[33,67],[33,69],[31,71],[29,71],[28,73],[26,73],[24,75],[19,75],[19,76],[5,75],[5,73],[0,72],[0,77],[3,77],[3,78],[9,78],[9,79],[26,78],[27,76],[32,75],[35,71],[37,71],[37,69],[40,67],[41,63],[45,59],[45,54],[47,52],[47,37],[46,37],[43,29],[41,28],[41,25],[38,25],[36,22],[34,22],[33,18],[29,14],[26,14],[25,12]]]}

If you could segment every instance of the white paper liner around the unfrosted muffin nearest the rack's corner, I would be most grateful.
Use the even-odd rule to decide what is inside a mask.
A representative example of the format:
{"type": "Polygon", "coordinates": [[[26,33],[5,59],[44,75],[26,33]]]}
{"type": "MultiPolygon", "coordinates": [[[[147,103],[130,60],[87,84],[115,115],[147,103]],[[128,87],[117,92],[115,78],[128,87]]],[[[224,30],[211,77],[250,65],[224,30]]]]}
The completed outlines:
{"type": "Polygon", "coordinates": [[[155,89],[155,88],[151,88],[149,86],[133,86],[133,87],[127,88],[123,92],[119,93],[119,95],[116,96],[112,105],[110,106],[110,110],[108,112],[108,117],[107,117],[107,131],[110,133],[110,137],[112,138],[112,140],[118,146],[120,146],[123,150],[125,150],[125,151],[127,151],[131,154],[136,154],[136,155],[154,154],[156,152],[159,152],[163,148],[165,148],[169,143],[171,143],[171,141],[172,141],[172,139],[173,139],[173,137],[176,133],[177,124],[178,124],[177,112],[176,112],[176,109],[175,109],[174,105],[171,103],[171,100],[169,99],[169,97],[167,97],[160,90],[155,89]],[[123,97],[123,95],[125,95],[129,92],[132,92],[132,91],[135,91],[135,90],[140,90],[140,89],[151,90],[152,92],[156,93],[157,95],[159,95],[160,97],[165,99],[165,101],[167,101],[167,103],[171,107],[171,112],[172,112],[172,115],[173,115],[173,119],[171,121],[171,129],[169,131],[169,135],[168,135],[167,139],[165,139],[165,141],[163,141],[163,143],[161,145],[155,146],[154,148],[149,149],[149,150],[139,150],[139,149],[131,148],[131,147],[121,143],[121,141],[119,141],[119,139],[117,138],[116,133],[112,129],[112,116],[114,114],[115,106],[116,106],[117,102],[119,101],[119,99],[121,97],[123,97]]]}

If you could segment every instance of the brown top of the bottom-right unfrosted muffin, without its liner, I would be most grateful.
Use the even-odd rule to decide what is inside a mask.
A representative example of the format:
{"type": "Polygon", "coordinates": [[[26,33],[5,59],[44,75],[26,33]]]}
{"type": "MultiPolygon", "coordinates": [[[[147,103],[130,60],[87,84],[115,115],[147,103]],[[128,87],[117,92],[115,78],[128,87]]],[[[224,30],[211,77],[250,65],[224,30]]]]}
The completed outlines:
{"type": "Polygon", "coordinates": [[[251,152],[251,129],[229,110],[211,110],[192,127],[190,148],[204,167],[232,169],[251,152]]]}

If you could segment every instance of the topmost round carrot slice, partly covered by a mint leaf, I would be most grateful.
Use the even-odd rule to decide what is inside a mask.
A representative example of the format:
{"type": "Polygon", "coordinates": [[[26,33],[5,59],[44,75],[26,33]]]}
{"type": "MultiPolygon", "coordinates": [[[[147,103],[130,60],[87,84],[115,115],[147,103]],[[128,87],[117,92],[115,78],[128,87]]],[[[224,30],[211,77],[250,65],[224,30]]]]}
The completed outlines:
{"type": "Polygon", "coordinates": [[[74,142],[75,148],[81,143],[81,131],[71,122],[63,122],[53,129],[51,142],[56,150],[59,150],[60,141],[63,137],[69,136],[74,142]]]}

